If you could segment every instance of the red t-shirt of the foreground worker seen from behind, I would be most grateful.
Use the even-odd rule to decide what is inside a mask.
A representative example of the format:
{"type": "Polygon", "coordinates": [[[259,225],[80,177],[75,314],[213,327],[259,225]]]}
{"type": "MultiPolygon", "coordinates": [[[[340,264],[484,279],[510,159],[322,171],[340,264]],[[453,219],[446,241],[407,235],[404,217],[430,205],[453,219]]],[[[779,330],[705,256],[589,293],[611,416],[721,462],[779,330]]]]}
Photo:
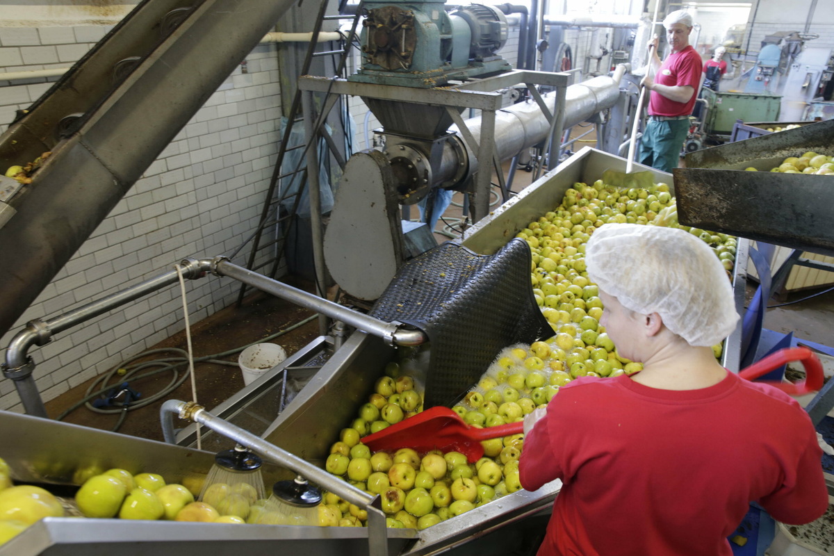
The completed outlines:
{"type": "Polygon", "coordinates": [[[524,444],[524,488],[563,482],[539,556],[729,556],[751,501],[786,523],[828,507],[807,413],[730,372],[683,391],[580,378],[524,444]]]}

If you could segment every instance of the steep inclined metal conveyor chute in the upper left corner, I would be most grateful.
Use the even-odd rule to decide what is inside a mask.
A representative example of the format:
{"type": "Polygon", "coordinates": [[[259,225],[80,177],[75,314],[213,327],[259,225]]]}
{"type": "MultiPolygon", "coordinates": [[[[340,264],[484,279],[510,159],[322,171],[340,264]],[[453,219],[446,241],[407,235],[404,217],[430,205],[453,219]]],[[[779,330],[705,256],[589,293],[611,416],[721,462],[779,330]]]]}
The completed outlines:
{"type": "Polygon", "coordinates": [[[3,168],[52,156],[7,200],[0,333],[291,5],[144,0],[3,133],[3,168]]]}

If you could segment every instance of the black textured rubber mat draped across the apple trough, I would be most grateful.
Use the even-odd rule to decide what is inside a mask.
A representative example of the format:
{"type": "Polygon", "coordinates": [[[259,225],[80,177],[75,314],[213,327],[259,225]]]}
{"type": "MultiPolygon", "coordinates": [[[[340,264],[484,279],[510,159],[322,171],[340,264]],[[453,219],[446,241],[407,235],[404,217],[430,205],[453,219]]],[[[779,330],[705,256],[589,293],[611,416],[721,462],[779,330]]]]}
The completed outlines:
{"type": "Polygon", "coordinates": [[[494,255],[446,242],[399,268],[370,314],[429,337],[426,408],[451,407],[506,346],[553,335],[533,297],[530,260],[523,239],[494,255]]]}

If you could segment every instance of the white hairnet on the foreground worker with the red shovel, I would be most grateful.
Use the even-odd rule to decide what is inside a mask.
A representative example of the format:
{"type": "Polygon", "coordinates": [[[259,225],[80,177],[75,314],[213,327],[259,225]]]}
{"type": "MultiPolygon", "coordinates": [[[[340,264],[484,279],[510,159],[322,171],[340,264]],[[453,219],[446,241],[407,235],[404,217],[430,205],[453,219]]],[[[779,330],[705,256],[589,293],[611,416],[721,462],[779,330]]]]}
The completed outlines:
{"type": "Polygon", "coordinates": [[[712,346],[736,328],[724,266],[701,239],[678,228],[610,223],[585,251],[588,277],[623,307],[658,313],[693,346],[712,346]]]}

